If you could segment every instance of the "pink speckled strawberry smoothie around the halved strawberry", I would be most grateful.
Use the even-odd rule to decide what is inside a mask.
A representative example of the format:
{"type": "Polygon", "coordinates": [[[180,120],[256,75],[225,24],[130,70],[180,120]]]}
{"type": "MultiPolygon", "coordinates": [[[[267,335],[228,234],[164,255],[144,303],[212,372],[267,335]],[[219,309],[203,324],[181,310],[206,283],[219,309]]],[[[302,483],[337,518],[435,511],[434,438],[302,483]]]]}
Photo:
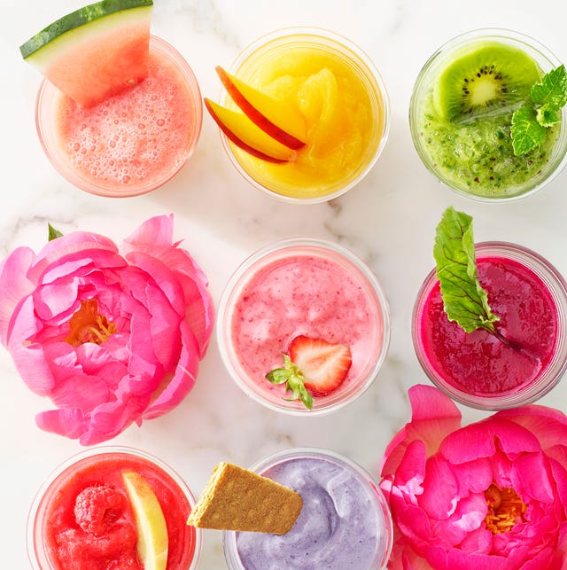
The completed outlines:
{"type": "MultiPolygon", "coordinates": [[[[338,389],[315,399],[338,402],[368,381],[384,349],[384,313],[360,269],[322,247],[283,248],[257,262],[243,278],[230,308],[229,344],[236,366],[253,390],[278,405],[283,386],[266,374],[283,366],[299,335],[350,348],[352,365],[338,389]]],[[[289,395],[289,394],[288,394],[289,395]]]]}

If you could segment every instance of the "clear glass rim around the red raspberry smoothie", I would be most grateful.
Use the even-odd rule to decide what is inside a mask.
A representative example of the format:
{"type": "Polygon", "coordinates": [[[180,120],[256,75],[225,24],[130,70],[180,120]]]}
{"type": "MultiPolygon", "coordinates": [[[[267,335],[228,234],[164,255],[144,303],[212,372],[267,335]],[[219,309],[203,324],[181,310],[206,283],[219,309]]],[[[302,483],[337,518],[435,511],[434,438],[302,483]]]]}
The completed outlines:
{"type": "MultiPolygon", "coordinates": [[[[43,480],[41,486],[37,489],[32,504],[27,511],[27,525],[26,525],[26,543],[27,543],[27,558],[34,568],[34,570],[50,570],[50,568],[43,568],[40,561],[36,555],[36,544],[35,544],[35,519],[37,517],[37,512],[43,502],[43,496],[49,490],[50,486],[57,480],[59,475],[66,472],[67,469],[72,467],[74,464],[82,461],[82,459],[87,459],[89,457],[96,457],[99,455],[105,455],[108,453],[121,453],[134,457],[142,457],[143,459],[149,461],[150,463],[157,465],[159,469],[166,472],[167,475],[175,482],[175,484],[181,489],[183,495],[187,497],[191,509],[197,504],[195,496],[193,495],[189,485],[183,480],[177,470],[171,465],[168,465],[163,459],[160,459],[153,454],[144,451],[143,449],[138,449],[130,446],[124,445],[101,445],[89,449],[82,449],[81,451],[74,453],[72,456],[67,457],[64,461],[59,463],[55,469],[53,469],[48,476],[43,480]]],[[[203,531],[198,527],[193,527],[195,530],[195,551],[193,553],[193,558],[191,559],[190,566],[187,570],[196,570],[198,566],[198,561],[203,550],[203,531]]]]}

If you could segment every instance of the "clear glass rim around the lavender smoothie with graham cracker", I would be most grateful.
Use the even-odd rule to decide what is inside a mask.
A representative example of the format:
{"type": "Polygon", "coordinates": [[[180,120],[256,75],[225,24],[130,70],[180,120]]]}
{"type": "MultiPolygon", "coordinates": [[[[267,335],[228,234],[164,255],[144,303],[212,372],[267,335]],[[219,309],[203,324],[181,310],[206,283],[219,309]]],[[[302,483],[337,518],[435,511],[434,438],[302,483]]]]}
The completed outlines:
{"type": "MultiPolygon", "coordinates": [[[[380,513],[381,517],[378,523],[382,523],[384,528],[384,552],[380,557],[379,550],[376,550],[375,558],[379,559],[379,566],[371,566],[371,568],[377,568],[377,570],[382,570],[388,563],[390,554],[392,552],[393,544],[393,524],[392,524],[392,514],[388,503],[380,489],[377,481],[370,475],[370,473],[362,467],[360,464],[356,463],[350,457],[346,457],[337,451],[331,449],[323,449],[316,447],[299,447],[284,449],[282,451],[276,451],[267,457],[262,457],[251,465],[250,470],[259,474],[265,472],[268,468],[275,465],[279,465],[286,461],[290,461],[294,458],[303,457],[315,457],[322,459],[323,461],[329,461],[341,466],[346,466],[357,480],[361,482],[361,485],[369,487],[371,491],[374,492],[373,495],[376,498],[375,504],[377,505],[377,512],[380,513]]],[[[236,545],[237,532],[235,531],[223,531],[222,533],[222,550],[224,552],[224,557],[227,565],[231,570],[243,570],[243,566],[237,556],[237,545],[236,545]]],[[[373,561],[373,564],[376,560],[373,561]]],[[[370,570],[370,569],[369,569],[370,570]]]]}

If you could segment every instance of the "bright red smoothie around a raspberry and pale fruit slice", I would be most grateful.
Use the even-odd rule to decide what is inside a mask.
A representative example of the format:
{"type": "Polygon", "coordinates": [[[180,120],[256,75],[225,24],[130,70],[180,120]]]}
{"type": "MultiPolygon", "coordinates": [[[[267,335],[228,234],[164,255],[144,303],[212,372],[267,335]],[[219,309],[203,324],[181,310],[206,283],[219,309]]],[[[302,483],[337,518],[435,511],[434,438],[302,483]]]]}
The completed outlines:
{"type": "Polygon", "coordinates": [[[167,472],[144,457],[109,452],[82,458],[71,465],[43,496],[34,535],[36,556],[46,560],[44,567],[104,570],[113,562],[141,570],[136,554],[136,519],[122,479],[122,472],[128,471],[139,473],[159,499],[167,523],[167,569],[190,566],[196,534],[193,527],[186,525],[191,506],[183,490],[167,472]],[[85,488],[110,488],[121,498],[120,507],[105,512],[107,525],[96,534],[84,530],[76,519],[77,496],[85,488]]]}

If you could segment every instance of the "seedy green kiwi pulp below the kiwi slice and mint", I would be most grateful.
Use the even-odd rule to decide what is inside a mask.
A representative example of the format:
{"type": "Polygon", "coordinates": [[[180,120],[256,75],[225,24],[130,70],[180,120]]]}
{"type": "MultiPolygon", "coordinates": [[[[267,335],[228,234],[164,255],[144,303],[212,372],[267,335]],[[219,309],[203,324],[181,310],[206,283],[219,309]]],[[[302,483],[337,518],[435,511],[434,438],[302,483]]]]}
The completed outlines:
{"type": "MultiPolygon", "coordinates": [[[[482,46],[483,40],[478,40],[482,46]]],[[[497,43],[491,43],[496,45],[497,43]]],[[[506,48],[506,44],[502,44],[506,48]]],[[[526,55],[529,56],[529,54],[526,55]]],[[[447,121],[436,105],[439,77],[454,64],[451,51],[440,51],[426,66],[414,92],[410,117],[414,143],[439,179],[457,191],[481,198],[513,197],[542,183],[554,168],[561,124],[548,129],[539,147],[516,156],[510,137],[512,114],[520,104],[495,107],[466,119],[447,121]]],[[[510,72],[513,76],[514,70],[510,72]]],[[[541,71],[542,75],[543,72],[541,71]]]]}

